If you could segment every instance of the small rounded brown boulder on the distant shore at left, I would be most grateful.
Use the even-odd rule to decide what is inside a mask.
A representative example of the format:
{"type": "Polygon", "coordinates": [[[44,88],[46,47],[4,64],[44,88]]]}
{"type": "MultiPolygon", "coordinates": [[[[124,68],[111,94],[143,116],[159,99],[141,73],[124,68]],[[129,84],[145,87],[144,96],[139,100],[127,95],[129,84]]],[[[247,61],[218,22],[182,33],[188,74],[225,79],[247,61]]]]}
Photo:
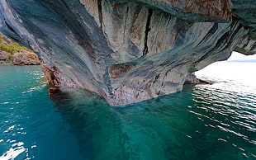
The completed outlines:
{"type": "Polygon", "coordinates": [[[18,53],[12,55],[12,64],[14,65],[39,65],[40,59],[37,54],[21,49],[18,53]]]}

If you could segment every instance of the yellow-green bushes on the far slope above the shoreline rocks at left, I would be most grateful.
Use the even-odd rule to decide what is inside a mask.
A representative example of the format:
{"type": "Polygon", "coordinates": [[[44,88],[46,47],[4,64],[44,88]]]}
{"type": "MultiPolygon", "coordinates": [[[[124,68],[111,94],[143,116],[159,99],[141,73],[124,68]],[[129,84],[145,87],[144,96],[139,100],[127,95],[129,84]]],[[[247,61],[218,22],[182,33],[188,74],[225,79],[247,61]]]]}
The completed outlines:
{"type": "Polygon", "coordinates": [[[6,52],[9,52],[11,54],[17,53],[21,49],[26,49],[28,51],[31,51],[30,49],[27,49],[26,47],[23,47],[16,42],[12,40],[5,40],[4,35],[0,33],[0,49],[6,52]]]}

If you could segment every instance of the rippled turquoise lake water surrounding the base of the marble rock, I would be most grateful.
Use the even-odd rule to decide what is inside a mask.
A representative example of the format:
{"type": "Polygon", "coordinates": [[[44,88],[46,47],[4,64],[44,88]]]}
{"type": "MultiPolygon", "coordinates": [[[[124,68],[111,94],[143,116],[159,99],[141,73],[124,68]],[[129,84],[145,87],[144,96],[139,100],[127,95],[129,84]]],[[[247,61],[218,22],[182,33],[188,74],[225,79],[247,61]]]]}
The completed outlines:
{"type": "Polygon", "coordinates": [[[70,88],[52,101],[39,66],[0,65],[0,159],[255,159],[256,78],[238,70],[256,64],[226,65],[236,78],[209,68],[213,85],[123,108],[70,88]]]}

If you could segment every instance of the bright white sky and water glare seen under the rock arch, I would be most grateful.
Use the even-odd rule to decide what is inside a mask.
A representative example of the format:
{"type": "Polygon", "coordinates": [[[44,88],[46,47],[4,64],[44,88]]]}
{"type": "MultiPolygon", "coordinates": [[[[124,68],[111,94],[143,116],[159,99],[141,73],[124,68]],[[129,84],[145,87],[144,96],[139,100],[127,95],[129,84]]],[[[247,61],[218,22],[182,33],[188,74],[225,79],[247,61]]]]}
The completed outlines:
{"type": "Polygon", "coordinates": [[[255,86],[256,55],[244,55],[232,52],[229,59],[208,65],[206,68],[196,72],[197,78],[215,82],[235,81],[244,85],[255,86]]]}

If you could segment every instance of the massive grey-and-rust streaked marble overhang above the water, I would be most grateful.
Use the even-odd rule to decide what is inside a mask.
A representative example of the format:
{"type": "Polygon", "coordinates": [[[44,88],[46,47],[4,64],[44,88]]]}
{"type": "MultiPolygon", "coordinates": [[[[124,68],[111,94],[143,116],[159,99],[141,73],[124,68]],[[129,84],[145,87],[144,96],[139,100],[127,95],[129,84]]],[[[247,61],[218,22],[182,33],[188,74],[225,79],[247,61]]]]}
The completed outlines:
{"type": "Polygon", "coordinates": [[[58,84],[123,106],[181,91],[234,49],[255,54],[256,4],[232,2],[0,0],[0,31],[40,54],[58,84]]]}

